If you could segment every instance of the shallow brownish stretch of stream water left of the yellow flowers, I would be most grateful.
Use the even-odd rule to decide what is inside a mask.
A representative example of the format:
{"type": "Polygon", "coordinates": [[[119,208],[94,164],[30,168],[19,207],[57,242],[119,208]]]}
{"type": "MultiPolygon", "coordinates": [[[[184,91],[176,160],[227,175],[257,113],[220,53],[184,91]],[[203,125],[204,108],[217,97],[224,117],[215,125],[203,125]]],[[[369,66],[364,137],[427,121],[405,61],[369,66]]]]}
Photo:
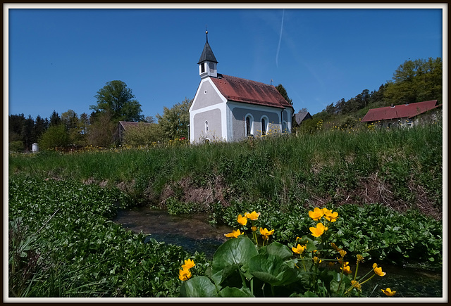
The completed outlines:
{"type": "Polygon", "coordinates": [[[166,210],[132,208],[118,210],[113,222],[135,233],[149,234],[156,241],[182,246],[187,252],[204,252],[213,257],[218,246],[226,241],[226,226],[211,226],[202,215],[169,215],[166,210]]]}

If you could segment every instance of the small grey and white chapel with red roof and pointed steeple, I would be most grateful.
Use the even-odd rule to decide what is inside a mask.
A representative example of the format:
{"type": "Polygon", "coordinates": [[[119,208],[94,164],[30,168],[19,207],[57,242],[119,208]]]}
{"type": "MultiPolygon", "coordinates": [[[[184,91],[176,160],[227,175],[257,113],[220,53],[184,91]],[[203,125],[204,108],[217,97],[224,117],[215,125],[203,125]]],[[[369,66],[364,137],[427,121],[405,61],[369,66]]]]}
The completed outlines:
{"type": "Polygon", "coordinates": [[[276,87],[222,75],[217,64],[207,36],[198,63],[201,82],[190,108],[192,143],[239,141],[270,129],[291,132],[294,109],[276,87]]]}

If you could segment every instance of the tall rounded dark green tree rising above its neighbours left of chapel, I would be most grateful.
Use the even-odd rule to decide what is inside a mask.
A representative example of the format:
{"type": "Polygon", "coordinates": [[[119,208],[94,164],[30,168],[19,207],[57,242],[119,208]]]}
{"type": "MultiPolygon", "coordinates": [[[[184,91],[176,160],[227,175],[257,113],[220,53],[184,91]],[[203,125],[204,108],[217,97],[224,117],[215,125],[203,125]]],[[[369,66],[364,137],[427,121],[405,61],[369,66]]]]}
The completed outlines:
{"type": "Polygon", "coordinates": [[[122,81],[107,82],[97,91],[97,104],[89,106],[89,109],[97,113],[109,113],[113,121],[143,121],[141,104],[135,100],[132,89],[122,81]]]}

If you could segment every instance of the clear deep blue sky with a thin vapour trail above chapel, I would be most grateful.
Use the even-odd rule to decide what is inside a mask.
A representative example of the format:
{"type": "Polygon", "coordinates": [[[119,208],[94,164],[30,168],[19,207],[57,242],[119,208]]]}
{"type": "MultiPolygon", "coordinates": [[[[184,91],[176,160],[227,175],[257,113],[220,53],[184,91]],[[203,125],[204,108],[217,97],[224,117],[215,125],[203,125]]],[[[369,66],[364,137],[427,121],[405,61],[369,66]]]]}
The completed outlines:
{"type": "Polygon", "coordinates": [[[9,6],[6,98],[7,113],[33,118],[53,110],[89,114],[97,91],[116,79],[132,89],[144,116],[194,98],[206,26],[219,73],[272,79],[283,84],[295,112],[314,115],[341,98],[377,90],[405,60],[443,57],[447,25],[444,6],[433,4],[28,7],[9,6]]]}

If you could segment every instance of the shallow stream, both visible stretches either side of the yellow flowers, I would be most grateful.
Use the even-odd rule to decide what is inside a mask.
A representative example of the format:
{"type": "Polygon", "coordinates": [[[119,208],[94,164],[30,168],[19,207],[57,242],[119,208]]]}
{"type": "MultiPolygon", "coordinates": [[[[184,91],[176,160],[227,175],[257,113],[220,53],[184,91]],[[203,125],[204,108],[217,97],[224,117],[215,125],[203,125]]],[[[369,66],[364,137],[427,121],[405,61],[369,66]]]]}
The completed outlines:
{"type": "MultiPolygon", "coordinates": [[[[224,236],[232,231],[227,226],[211,226],[206,215],[169,215],[166,210],[146,207],[118,210],[113,222],[135,233],[149,234],[156,241],[182,246],[189,253],[205,253],[210,260],[218,246],[228,238],[224,236]]],[[[359,267],[359,275],[371,269],[372,262],[359,267]]],[[[441,269],[427,269],[419,264],[397,266],[379,264],[386,276],[375,276],[362,286],[366,296],[385,297],[381,288],[397,291],[396,297],[402,298],[441,298],[443,296],[443,272],[441,269]],[[373,290],[373,288],[375,288],[373,290]]]]}

